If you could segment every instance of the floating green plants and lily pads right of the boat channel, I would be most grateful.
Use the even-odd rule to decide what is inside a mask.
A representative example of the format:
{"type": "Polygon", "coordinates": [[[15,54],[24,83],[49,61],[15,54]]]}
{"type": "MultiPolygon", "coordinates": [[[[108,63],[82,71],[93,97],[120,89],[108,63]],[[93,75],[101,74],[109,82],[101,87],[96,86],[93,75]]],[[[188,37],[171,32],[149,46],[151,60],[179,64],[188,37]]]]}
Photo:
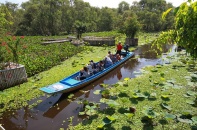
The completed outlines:
{"type": "MultiPolygon", "coordinates": [[[[98,119],[92,120],[88,126],[79,124],[74,128],[121,129],[120,125],[131,126],[132,129],[196,128],[197,76],[193,72],[188,73],[187,66],[176,62],[178,58],[173,56],[169,59],[171,64],[146,67],[143,69],[146,73],[134,72],[141,76],[126,78],[112,85],[109,99],[100,99],[101,104],[106,104],[106,109],[99,110],[102,114],[98,114],[98,119]],[[116,94],[115,99],[112,99],[112,94],[116,94]],[[118,117],[115,121],[106,118],[109,110],[118,117]]],[[[105,84],[103,88],[109,88],[107,86],[105,84]]],[[[96,90],[94,94],[101,95],[101,92],[96,90]]]]}

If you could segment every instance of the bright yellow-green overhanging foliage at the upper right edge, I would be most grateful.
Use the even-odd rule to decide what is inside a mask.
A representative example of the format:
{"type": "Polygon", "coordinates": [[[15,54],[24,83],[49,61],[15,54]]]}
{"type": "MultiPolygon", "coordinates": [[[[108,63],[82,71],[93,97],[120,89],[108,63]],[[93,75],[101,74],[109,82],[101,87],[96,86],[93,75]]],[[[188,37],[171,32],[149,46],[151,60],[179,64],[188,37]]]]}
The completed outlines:
{"type": "MultiPolygon", "coordinates": [[[[175,27],[173,30],[163,32],[155,43],[176,43],[178,47],[185,48],[193,57],[197,57],[197,2],[182,3],[173,10],[175,14],[175,27]]],[[[172,8],[168,9],[163,17],[168,15],[172,8]]]]}

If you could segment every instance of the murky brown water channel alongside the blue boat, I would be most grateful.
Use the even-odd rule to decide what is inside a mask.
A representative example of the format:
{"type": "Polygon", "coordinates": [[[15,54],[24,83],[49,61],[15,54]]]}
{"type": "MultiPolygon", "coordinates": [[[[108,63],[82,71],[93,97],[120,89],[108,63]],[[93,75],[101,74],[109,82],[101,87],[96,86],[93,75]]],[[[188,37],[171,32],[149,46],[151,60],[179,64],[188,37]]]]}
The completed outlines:
{"type": "MultiPolygon", "coordinates": [[[[167,52],[169,48],[170,46],[163,46],[163,52],[167,52]]],[[[69,94],[58,94],[49,98],[40,97],[43,102],[37,107],[31,110],[25,107],[15,112],[7,112],[1,117],[0,124],[6,130],[59,130],[60,128],[66,129],[69,125],[68,119],[74,116],[73,125],[76,125],[83,120],[82,116],[78,116],[81,105],[77,104],[76,101],[79,98],[86,98],[89,101],[98,102],[101,96],[95,95],[93,92],[102,89],[101,83],[114,84],[126,77],[134,78],[134,71],[147,65],[160,63],[161,60],[157,59],[156,53],[151,50],[149,45],[139,47],[135,51],[135,56],[139,56],[139,58],[131,58],[115,70],[83,88],[87,93],[73,92],[76,98],[73,102],[67,100],[69,94]]]]}

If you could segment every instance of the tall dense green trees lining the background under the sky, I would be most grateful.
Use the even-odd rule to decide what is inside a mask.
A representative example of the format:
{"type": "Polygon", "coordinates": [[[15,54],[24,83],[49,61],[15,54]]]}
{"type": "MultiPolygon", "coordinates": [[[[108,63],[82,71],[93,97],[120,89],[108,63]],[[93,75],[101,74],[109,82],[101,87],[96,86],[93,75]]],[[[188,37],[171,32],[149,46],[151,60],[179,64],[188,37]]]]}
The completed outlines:
{"type": "Polygon", "coordinates": [[[129,5],[121,2],[116,8],[92,7],[82,0],[29,0],[17,4],[6,2],[0,5],[4,8],[1,16],[13,23],[4,26],[16,35],[62,35],[76,31],[75,23],[78,21],[86,25],[86,32],[112,31],[121,29],[128,15],[133,12],[143,25],[143,31],[161,31],[171,28],[173,15],[163,21],[162,12],[172,4],[165,0],[141,0],[129,5]]]}

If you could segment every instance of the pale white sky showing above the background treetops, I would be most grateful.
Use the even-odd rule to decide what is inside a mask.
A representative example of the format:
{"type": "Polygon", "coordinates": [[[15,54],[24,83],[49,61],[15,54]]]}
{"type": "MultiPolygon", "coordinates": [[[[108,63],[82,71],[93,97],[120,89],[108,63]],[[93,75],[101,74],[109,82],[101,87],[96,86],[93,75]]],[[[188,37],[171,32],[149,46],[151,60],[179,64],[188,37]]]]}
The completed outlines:
{"type": "MultiPolygon", "coordinates": [[[[26,2],[28,0],[0,0],[0,3],[5,3],[5,2],[12,2],[12,3],[17,3],[21,4],[22,2],[26,2]]],[[[109,8],[117,8],[118,4],[122,1],[125,1],[132,5],[133,1],[140,1],[140,0],[83,0],[84,2],[89,2],[91,6],[95,7],[109,7],[109,8]]],[[[179,6],[182,2],[185,2],[187,0],[166,0],[167,2],[172,3],[174,6],[179,6]]]]}

